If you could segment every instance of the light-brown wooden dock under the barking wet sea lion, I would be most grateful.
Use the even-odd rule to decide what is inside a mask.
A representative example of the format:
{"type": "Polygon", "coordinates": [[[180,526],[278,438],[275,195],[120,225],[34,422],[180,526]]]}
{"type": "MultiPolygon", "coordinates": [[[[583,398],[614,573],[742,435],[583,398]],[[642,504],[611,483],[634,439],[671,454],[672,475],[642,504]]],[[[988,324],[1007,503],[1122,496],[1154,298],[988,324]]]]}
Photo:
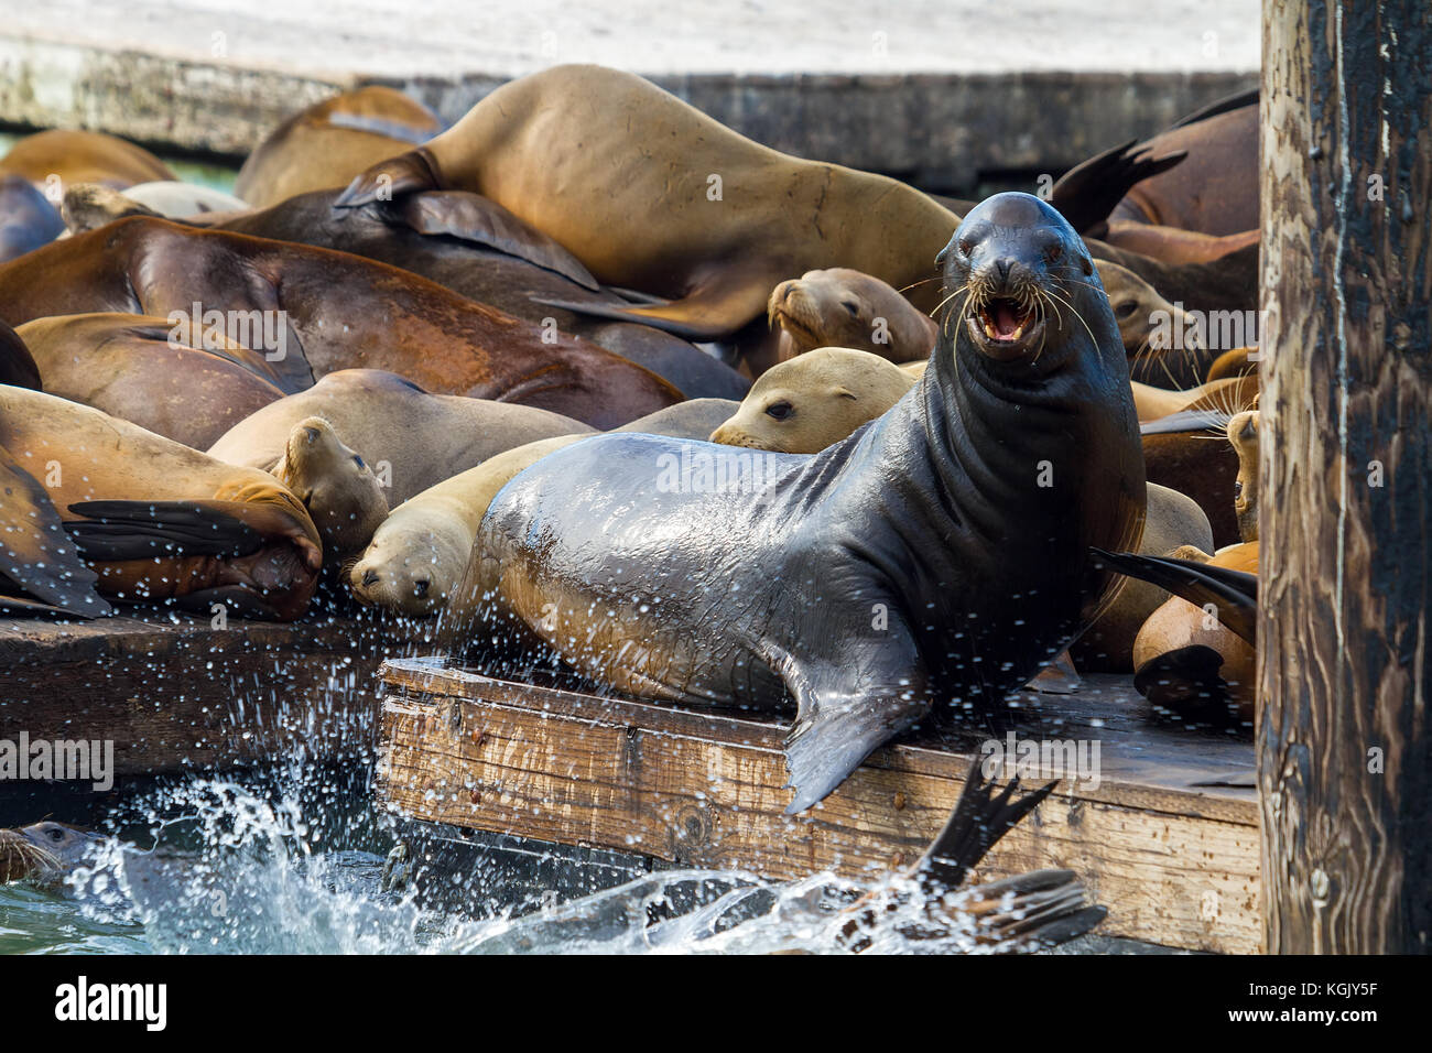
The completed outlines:
{"type": "Polygon", "coordinates": [[[783,722],[384,663],[378,797],[412,824],[739,868],[773,880],[912,862],[982,739],[1100,744],[1101,781],[1060,789],[981,877],[1068,867],[1110,908],[1100,933],[1190,950],[1259,948],[1253,745],[1158,726],[1127,678],[1025,695],[978,734],[878,751],[812,812],[789,801],[783,722]]]}

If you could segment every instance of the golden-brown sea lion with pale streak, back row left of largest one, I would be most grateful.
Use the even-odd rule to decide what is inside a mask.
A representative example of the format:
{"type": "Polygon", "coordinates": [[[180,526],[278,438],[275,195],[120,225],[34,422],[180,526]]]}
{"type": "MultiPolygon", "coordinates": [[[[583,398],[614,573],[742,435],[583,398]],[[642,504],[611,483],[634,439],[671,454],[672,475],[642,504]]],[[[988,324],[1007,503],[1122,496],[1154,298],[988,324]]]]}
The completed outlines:
{"type": "Polygon", "coordinates": [[[233,192],[255,208],[266,208],[296,193],[342,186],[442,128],[432,110],[391,87],[344,92],[274,129],[243,162],[233,192]]]}

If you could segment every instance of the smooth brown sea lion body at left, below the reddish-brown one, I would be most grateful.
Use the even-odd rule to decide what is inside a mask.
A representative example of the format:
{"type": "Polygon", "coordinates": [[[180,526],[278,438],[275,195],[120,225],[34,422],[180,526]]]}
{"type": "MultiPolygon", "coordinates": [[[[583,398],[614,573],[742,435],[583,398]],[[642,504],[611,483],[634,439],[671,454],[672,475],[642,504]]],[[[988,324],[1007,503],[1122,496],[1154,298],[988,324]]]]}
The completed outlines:
{"type": "Polygon", "coordinates": [[[56,315],[26,322],[19,334],[52,395],[195,450],[284,397],[262,354],[218,331],[196,338],[165,318],[56,315]]]}

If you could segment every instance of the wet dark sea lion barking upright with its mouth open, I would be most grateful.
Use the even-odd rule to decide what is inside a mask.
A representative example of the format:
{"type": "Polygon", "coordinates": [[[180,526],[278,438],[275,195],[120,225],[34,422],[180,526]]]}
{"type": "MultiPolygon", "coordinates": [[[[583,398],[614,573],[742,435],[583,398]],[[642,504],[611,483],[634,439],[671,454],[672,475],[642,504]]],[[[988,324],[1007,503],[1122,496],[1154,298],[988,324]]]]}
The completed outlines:
{"type": "Polygon", "coordinates": [[[442,640],[511,626],[657,701],[793,696],[790,814],[937,706],[1025,683],[1111,587],[1087,546],[1143,532],[1128,367],[1084,244],[1037,198],[990,198],[941,261],[975,305],[889,413],[808,457],[653,436],[548,454],[493,499],[442,640]]]}

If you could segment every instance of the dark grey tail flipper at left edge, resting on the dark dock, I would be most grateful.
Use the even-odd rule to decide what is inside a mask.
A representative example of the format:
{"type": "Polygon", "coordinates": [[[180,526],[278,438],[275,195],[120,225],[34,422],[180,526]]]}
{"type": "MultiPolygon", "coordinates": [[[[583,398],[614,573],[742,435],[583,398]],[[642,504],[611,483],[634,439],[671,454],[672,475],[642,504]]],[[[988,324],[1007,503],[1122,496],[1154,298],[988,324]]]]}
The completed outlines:
{"type": "Polygon", "coordinates": [[[0,491],[6,493],[0,504],[0,592],[6,593],[0,606],[80,617],[115,613],[95,592],[99,576],[66,537],[50,494],[4,447],[0,447],[0,491]]]}

